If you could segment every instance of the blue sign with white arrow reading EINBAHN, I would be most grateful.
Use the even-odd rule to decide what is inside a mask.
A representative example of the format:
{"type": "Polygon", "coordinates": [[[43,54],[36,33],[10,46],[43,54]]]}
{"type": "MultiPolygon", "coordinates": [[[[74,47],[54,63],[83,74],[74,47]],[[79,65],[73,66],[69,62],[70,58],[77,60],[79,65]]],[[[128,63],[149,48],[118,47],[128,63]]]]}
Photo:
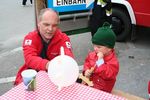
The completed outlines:
{"type": "Polygon", "coordinates": [[[48,8],[58,12],[88,10],[93,8],[94,0],[48,0],[48,8]]]}

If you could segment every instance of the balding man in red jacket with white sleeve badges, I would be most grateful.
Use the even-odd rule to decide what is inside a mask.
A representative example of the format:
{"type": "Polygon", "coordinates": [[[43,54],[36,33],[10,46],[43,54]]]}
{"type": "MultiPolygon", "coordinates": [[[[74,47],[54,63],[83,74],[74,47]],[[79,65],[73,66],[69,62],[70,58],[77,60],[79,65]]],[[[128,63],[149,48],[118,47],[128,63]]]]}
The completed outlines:
{"type": "Polygon", "coordinates": [[[21,72],[25,69],[36,71],[48,69],[49,62],[60,55],[60,47],[65,54],[73,57],[69,37],[58,28],[59,16],[52,9],[41,10],[38,16],[38,29],[27,34],[23,41],[25,64],[19,69],[15,85],[22,82],[21,72]]]}

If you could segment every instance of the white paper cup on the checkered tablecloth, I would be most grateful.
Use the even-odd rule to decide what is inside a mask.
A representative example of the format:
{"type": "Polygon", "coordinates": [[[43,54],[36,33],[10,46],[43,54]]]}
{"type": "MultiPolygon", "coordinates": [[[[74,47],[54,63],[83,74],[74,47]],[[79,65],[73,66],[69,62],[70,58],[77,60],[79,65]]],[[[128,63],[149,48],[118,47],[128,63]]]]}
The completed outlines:
{"type": "Polygon", "coordinates": [[[36,70],[33,70],[33,69],[27,69],[21,73],[23,83],[26,86],[27,90],[34,90],[35,89],[36,74],[37,74],[36,70]]]}

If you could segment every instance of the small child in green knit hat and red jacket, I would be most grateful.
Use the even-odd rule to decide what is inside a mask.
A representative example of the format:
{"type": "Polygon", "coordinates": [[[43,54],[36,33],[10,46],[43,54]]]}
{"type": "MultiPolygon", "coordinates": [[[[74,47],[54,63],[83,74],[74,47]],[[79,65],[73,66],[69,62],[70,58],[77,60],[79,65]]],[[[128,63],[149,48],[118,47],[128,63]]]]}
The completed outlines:
{"type": "Polygon", "coordinates": [[[83,68],[83,74],[93,82],[93,87],[106,92],[112,91],[119,71],[115,39],[109,23],[104,23],[92,37],[94,51],[86,57],[83,68]]]}

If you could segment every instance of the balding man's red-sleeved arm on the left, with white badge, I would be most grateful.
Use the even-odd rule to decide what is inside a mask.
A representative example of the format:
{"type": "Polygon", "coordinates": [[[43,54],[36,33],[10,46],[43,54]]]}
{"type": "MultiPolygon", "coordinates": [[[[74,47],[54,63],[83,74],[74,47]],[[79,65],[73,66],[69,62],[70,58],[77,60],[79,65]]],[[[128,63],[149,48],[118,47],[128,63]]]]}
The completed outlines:
{"type": "Polygon", "coordinates": [[[35,70],[46,70],[47,59],[42,59],[40,54],[40,40],[35,40],[31,36],[26,36],[23,41],[23,53],[25,64],[35,70]]]}

